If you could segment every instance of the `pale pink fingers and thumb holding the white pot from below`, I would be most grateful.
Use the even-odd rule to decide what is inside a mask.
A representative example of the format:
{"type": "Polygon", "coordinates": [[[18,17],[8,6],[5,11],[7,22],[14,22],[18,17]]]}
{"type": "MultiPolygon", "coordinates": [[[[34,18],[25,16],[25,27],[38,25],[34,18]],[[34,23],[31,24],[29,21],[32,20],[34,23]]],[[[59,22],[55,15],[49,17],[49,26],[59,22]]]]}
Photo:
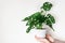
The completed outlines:
{"type": "Polygon", "coordinates": [[[54,42],[54,39],[50,35],[50,34],[46,34],[46,38],[38,38],[37,35],[35,35],[36,40],[38,40],[41,43],[52,43],[54,42]]]}

